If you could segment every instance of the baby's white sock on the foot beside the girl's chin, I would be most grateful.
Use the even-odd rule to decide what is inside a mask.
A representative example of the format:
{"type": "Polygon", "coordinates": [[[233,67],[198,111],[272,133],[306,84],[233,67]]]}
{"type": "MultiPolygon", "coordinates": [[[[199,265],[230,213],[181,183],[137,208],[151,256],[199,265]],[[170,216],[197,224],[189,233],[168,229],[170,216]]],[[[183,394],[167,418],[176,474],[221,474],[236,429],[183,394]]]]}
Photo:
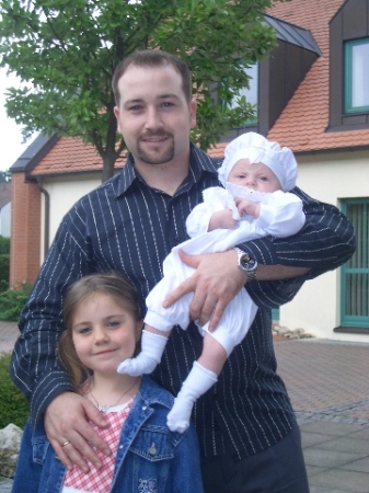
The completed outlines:
{"type": "Polygon", "coordinates": [[[141,352],[136,358],[127,358],[119,363],[117,372],[128,374],[138,377],[143,374],[151,374],[162,357],[168,337],[142,331],[141,352]]]}

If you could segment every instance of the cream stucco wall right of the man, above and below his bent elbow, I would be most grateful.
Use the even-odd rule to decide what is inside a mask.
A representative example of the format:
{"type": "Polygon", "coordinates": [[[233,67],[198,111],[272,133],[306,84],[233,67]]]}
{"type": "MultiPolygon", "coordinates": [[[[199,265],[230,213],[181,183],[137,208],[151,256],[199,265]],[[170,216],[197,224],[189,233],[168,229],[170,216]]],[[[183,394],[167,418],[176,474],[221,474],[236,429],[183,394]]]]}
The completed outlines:
{"type": "MultiPolygon", "coordinates": [[[[369,151],[297,157],[298,185],[311,196],[339,207],[342,198],[369,197],[369,151]]],[[[334,333],[339,325],[339,270],[303,285],[280,308],[280,324],[318,337],[369,343],[366,334],[334,333]]]]}

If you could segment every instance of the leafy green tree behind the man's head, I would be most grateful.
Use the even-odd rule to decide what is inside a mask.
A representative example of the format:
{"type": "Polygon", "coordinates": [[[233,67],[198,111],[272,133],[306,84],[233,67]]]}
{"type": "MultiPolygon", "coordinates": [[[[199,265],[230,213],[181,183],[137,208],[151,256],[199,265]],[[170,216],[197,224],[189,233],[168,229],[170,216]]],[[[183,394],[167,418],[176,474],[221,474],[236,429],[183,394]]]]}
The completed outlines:
{"type": "MultiPolygon", "coordinates": [[[[281,0],[282,1],[282,0],[281,0]]],[[[203,148],[252,118],[239,98],[244,67],[275,45],[263,23],[272,0],[2,0],[0,66],[21,88],[8,90],[8,115],[35,131],[82,138],[103,160],[103,181],[126,145],[116,134],[111,80],[114,68],[137,49],[160,47],[191,67],[198,99],[193,139],[203,148]],[[219,82],[224,82],[220,83],[219,82]],[[219,85],[218,96],[214,96],[219,85]],[[226,104],[224,104],[226,103],[226,104]]]]}

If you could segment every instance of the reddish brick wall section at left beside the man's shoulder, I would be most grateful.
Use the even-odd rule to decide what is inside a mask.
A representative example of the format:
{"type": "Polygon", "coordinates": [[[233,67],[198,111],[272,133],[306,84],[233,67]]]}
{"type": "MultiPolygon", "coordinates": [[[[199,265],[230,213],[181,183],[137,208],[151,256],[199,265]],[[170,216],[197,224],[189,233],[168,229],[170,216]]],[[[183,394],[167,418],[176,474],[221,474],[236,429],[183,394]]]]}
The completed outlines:
{"type": "Polygon", "coordinates": [[[10,243],[10,286],[33,284],[41,262],[41,192],[23,172],[12,173],[10,243]]]}

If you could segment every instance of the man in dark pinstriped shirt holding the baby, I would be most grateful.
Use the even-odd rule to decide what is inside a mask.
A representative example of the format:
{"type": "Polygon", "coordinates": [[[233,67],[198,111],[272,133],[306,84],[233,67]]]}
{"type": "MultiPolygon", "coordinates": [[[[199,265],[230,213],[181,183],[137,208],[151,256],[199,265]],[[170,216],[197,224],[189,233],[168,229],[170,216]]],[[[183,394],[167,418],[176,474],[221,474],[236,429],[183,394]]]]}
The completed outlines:
{"type": "MultiPolygon", "coordinates": [[[[44,416],[60,460],[82,470],[88,468],[83,456],[100,467],[90,444],[109,450],[87,422],[105,426],[103,415],[71,392],[55,356],[64,330],[65,289],[91,272],[118,271],[136,285],[143,312],[147,294],[162,277],[162,261],[187,239],[185,218],[201,202],[201,191],[219,184],[219,163],[189,144],[196,103],[185,64],[159,50],[137,53],[117,67],[113,88],[118,130],[130,150],[127,164],[64,218],[22,313],[22,335],[12,358],[13,380],[30,399],[32,425],[44,416]]],[[[170,305],[194,293],[191,318],[200,323],[211,318],[211,329],[245,284],[260,307],[218,383],[197,401],[193,413],[207,492],[309,491],[299,429],[275,372],[270,307],[292,299],[305,279],[345,262],[355,240],[351,226],[335,207],[298,188],[293,192],[304,202],[302,231],[292,239],[240,245],[258,262],[256,280],[247,283],[255,272],[240,268],[234,250],[183,255],[196,273],[165,300],[170,305]]],[[[187,331],[175,328],[153,377],[176,393],[201,346],[195,324],[187,331]]],[[[21,462],[30,460],[31,434],[27,427],[21,462]]]]}

